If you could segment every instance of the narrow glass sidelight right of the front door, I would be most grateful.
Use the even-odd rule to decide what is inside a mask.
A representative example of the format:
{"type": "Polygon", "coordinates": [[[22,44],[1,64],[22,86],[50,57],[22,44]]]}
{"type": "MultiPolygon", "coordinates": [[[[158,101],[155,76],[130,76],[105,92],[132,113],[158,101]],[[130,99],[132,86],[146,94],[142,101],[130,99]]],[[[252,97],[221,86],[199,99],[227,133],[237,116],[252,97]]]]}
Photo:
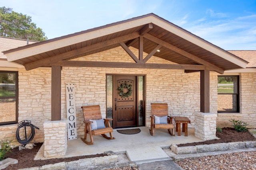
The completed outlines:
{"type": "Polygon", "coordinates": [[[139,100],[139,105],[138,105],[138,115],[139,115],[139,126],[143,126],[143,113],[144,113],[144,102],[143,102],[143,89],[144,89],[144,76],[139,76],[139,84],[138,84],[138,100],[139,100]]]}

